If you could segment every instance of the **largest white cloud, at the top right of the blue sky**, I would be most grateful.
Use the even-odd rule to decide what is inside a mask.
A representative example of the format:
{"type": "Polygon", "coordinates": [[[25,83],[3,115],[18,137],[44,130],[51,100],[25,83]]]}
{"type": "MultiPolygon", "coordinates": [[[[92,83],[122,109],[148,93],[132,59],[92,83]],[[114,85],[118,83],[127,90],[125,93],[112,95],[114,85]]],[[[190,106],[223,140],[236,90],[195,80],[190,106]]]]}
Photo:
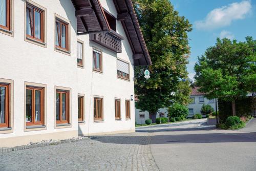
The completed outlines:
{"type": "Polygon", "coordinates": [[[232,3],[210,11],[204,20],[195,22],[197,29],[216,29],[229,26],[233,20],[243,19],[251,11],[251,2],[232,3]]]}

